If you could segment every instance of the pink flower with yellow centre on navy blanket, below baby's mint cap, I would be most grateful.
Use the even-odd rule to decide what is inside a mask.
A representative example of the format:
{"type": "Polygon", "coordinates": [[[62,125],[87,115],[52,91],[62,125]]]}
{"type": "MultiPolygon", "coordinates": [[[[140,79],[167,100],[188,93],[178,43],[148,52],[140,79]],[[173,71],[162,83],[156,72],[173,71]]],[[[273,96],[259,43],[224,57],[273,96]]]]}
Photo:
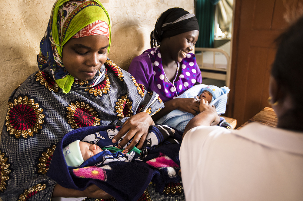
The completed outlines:
{"type": "Polygon", "coordinates": [[[104,167],[102,168],[102,167],[97,167],[97,166],[88,166],[88,167],[84,167],[84,168],[74,169],[73,172],[77,177],[91,178],[91,179],[98,179],[101,181],[106,181],[107,177],[106,177],[105,169],[108,169],[108,168],[104,168],[104,167]]]}

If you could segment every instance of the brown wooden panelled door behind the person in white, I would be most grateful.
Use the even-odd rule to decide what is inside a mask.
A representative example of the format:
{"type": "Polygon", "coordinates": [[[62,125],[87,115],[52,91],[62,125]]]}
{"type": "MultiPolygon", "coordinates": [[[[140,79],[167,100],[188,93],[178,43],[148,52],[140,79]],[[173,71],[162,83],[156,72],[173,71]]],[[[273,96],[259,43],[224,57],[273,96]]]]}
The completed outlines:
{"type": "MultiPolygon", "coordinates": [[[[300,0],[301,1],[301,0],[300,0]]],[[[226,116],[241,126],[267,102],[274,40],[288,27],[283,18],[298,0],[236,0],[231,61],[231,91],[226,116]]]]}

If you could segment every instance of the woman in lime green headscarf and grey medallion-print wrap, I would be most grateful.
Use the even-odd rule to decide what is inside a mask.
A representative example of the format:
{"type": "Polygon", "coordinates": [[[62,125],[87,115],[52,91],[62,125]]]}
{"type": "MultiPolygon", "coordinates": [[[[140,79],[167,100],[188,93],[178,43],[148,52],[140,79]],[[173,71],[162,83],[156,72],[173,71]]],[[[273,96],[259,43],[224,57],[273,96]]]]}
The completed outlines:
{"type": "Polygon", "coordinates": [[[40,43],[40,70],[8,101],[0,154],[3,200],[110,196],[96,186],[67,190],[46,176],[56,144],[69,131],[123,126],[113,142],[141,148],[151,116],[164,106],[158,94],[107,58],[110,44],[109,16],[98,0],[55,2],[40,43]]]}

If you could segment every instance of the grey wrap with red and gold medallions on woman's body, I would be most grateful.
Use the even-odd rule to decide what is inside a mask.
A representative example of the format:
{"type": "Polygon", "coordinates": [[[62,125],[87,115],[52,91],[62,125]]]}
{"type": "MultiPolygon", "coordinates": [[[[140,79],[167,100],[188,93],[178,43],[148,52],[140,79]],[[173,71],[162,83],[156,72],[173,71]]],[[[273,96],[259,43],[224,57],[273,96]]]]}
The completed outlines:
{"type": "Polygon", "coordinates": [[[122,126],[136,113],[153,115],[164,107],[158,94],[148,92],[111,60],[102,68],[95,86],[77,80],[68,94],[49,67],[30,75],[12,93],[1,136],[3,200],[51,199],[56,182],[46,173],[66,133],[85,126],[122,126]]]}

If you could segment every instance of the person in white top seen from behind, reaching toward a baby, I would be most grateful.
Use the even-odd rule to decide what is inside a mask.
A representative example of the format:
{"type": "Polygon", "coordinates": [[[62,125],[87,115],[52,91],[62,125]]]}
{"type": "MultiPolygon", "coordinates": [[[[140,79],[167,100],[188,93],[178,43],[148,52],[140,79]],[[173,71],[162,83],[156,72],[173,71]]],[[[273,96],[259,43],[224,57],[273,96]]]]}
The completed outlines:
{"type": "Polygon", "coordinates": [[[179,152],[187,201],[303,200],[303,17],[276,42],[268,102],[277,128],[210,126],[218,115],[202,99],[179,152]]]}

